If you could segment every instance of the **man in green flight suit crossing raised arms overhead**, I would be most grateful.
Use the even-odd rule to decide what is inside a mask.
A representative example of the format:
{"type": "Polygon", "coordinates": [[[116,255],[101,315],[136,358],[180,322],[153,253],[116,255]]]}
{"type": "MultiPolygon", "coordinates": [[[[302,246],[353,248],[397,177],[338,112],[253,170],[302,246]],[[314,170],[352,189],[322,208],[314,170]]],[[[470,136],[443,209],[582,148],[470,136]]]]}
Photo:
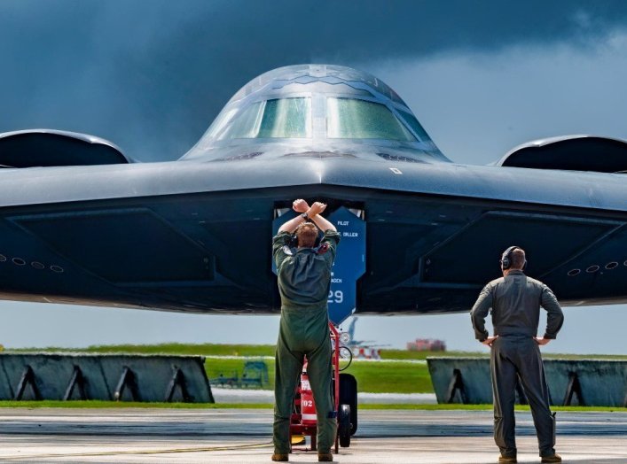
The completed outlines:
{"type": "Polygon", "coordinates": [[[307,357],[307,374],[317,412],[317,460],[332,461],[331,445],[337,429],[331,398],[331,338],[327,298],[331,267],[340,234],[319,214],[326,205],[295,200],[294,211],[302,213],[288,220],[272,239],[281,296],[274,384],[274,454],[272,460],[289,457],[289,426],[294,392],[307,357]],[[312,220],[309,222],[308,220],[312,220]],[[324,232],[316,248],[318,228],[324,232]],[[290,244],[295,232],[298,248],[290,244]]]}

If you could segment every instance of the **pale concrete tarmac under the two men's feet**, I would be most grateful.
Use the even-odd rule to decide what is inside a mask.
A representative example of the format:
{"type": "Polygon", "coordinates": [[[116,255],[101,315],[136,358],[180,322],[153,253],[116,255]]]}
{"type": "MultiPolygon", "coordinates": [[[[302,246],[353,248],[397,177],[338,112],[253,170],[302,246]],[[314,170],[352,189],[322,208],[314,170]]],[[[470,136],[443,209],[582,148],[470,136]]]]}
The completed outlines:
{"type": "MultiPolygon", "coordinates": [[[[519,462],[539,462],[529,413],[518,413],[519,462]]],[[[269,409],[0,409],[0,460],[270,462],[269,409]]],[[[360,411],[346,463],[496,462],[488,411],[360,411]]],[[[564,462],[627,462],[627,413],[559,413],[564,462]]],[[[317,462],[294,452],[292,462],[317,462]]]]}

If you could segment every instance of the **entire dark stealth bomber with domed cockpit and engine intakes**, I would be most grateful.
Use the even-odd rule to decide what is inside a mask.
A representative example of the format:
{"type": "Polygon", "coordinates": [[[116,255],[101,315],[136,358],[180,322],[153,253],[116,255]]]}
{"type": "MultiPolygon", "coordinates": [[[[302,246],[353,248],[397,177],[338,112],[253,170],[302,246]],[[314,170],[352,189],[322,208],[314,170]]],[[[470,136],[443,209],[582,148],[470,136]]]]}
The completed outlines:
{"type": "Polygon", "coordinates": [[[342,232],[338,256],[359,268],[350,298],[333,291],[337,322],[467,311],[513,244],[561,302],[623,303],[627,177],[612,172],[626,153],[567,136],[456,165],[371,74],[286,66],[240,89],[178,161],[129,163],[90,135],[0,135],[0,165],[22,167],[0,169],[2,298],[278,312],[270,238],[302,197],[365,221],[365,244],[342,232]]]}

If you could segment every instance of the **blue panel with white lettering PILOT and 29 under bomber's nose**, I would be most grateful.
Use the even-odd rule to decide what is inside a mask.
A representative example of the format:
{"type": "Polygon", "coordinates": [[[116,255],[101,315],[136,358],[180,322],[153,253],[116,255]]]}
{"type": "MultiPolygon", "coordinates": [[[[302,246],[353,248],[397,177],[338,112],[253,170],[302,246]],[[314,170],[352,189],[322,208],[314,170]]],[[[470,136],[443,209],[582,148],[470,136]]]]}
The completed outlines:
{"type": "MultiPolygon", "coordinates": [[[[294,218],[293,211],[283,214],[272,223],[272,232],[277,233],[281,224],[294,218]]],[[[357,279],[365,272],[365,221],[341,207],[328,218],[340,233],[335,262],[331,272],[329,291],[329,319],[340,324],[357,307],[357,279]]],[[[272,262],[272,271],[277,269],[272,262]]]]}

